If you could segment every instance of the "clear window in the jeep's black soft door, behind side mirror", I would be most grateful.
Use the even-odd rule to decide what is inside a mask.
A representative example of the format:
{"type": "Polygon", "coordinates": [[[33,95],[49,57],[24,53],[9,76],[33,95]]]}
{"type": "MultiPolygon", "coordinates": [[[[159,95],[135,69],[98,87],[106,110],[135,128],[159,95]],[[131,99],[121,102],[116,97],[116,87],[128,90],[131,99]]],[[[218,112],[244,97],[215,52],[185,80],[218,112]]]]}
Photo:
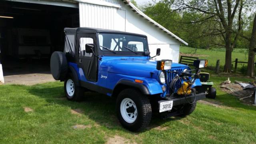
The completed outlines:
{"type": "Polygon", "coordinates": [[[85,52],[86,44],[94,44],[92,38],[80,38],[79,39],[79,56],[91,57],[92,53],[85,52]]]}

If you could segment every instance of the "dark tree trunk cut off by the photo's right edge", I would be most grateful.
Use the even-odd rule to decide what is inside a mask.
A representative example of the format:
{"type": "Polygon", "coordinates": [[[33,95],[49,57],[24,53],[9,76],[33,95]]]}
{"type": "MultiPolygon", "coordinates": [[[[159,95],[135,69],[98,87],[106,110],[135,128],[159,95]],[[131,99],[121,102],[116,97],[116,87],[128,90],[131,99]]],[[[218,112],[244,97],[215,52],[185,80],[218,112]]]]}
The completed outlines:
{"type": "Polygon", "coordinates": [[[252,36],[250,38],[249,56],[248,56],[248,65],[247,65],[247,75],[251,77],[254,76],[254,69],[255,69],[255,64],[254,64],[255,46],[256,46],[256,13],[254,16],[254,21],[252,26],[252,36]]]}

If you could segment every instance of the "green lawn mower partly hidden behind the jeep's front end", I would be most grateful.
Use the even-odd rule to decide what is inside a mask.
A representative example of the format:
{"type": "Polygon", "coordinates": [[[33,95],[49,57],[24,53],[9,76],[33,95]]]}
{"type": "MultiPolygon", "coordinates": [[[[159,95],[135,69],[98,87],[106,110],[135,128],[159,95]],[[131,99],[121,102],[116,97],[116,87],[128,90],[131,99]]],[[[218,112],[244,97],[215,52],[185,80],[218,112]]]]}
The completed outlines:
{"type": "Polygon", "coordinates": [[[216,98],[216,89],[213,86],[213,82],[208,81],[210,74],[207,72],[200,72],[200,81],[202,84],[202,91],[206,92],[206,98],[216,98]]]}

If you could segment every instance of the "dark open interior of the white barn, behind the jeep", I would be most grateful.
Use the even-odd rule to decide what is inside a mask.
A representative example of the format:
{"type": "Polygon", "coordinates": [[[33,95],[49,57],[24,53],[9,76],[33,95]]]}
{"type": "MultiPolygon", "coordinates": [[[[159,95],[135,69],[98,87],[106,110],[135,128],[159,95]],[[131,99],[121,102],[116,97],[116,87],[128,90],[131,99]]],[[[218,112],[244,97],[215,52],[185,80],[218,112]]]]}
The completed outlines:
{"type": "Polygon", "coordinates": [[[78,8],[0,1],[4,76],[50,74],[50,56],[63,51],[65,27],[79,27],[78,8]]]}

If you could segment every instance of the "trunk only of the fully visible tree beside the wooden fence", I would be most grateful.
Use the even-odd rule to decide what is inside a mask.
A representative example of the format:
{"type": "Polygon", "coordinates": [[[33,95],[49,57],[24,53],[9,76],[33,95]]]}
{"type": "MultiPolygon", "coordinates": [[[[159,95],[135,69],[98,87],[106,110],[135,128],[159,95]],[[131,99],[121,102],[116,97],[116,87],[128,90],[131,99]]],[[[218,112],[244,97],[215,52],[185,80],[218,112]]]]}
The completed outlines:
{"type": "Polygon", "coordinates": [[[224,72],[231,72],[232,46],[231,46],[231,30],[226,31],[226,55],[224,72]]]}

